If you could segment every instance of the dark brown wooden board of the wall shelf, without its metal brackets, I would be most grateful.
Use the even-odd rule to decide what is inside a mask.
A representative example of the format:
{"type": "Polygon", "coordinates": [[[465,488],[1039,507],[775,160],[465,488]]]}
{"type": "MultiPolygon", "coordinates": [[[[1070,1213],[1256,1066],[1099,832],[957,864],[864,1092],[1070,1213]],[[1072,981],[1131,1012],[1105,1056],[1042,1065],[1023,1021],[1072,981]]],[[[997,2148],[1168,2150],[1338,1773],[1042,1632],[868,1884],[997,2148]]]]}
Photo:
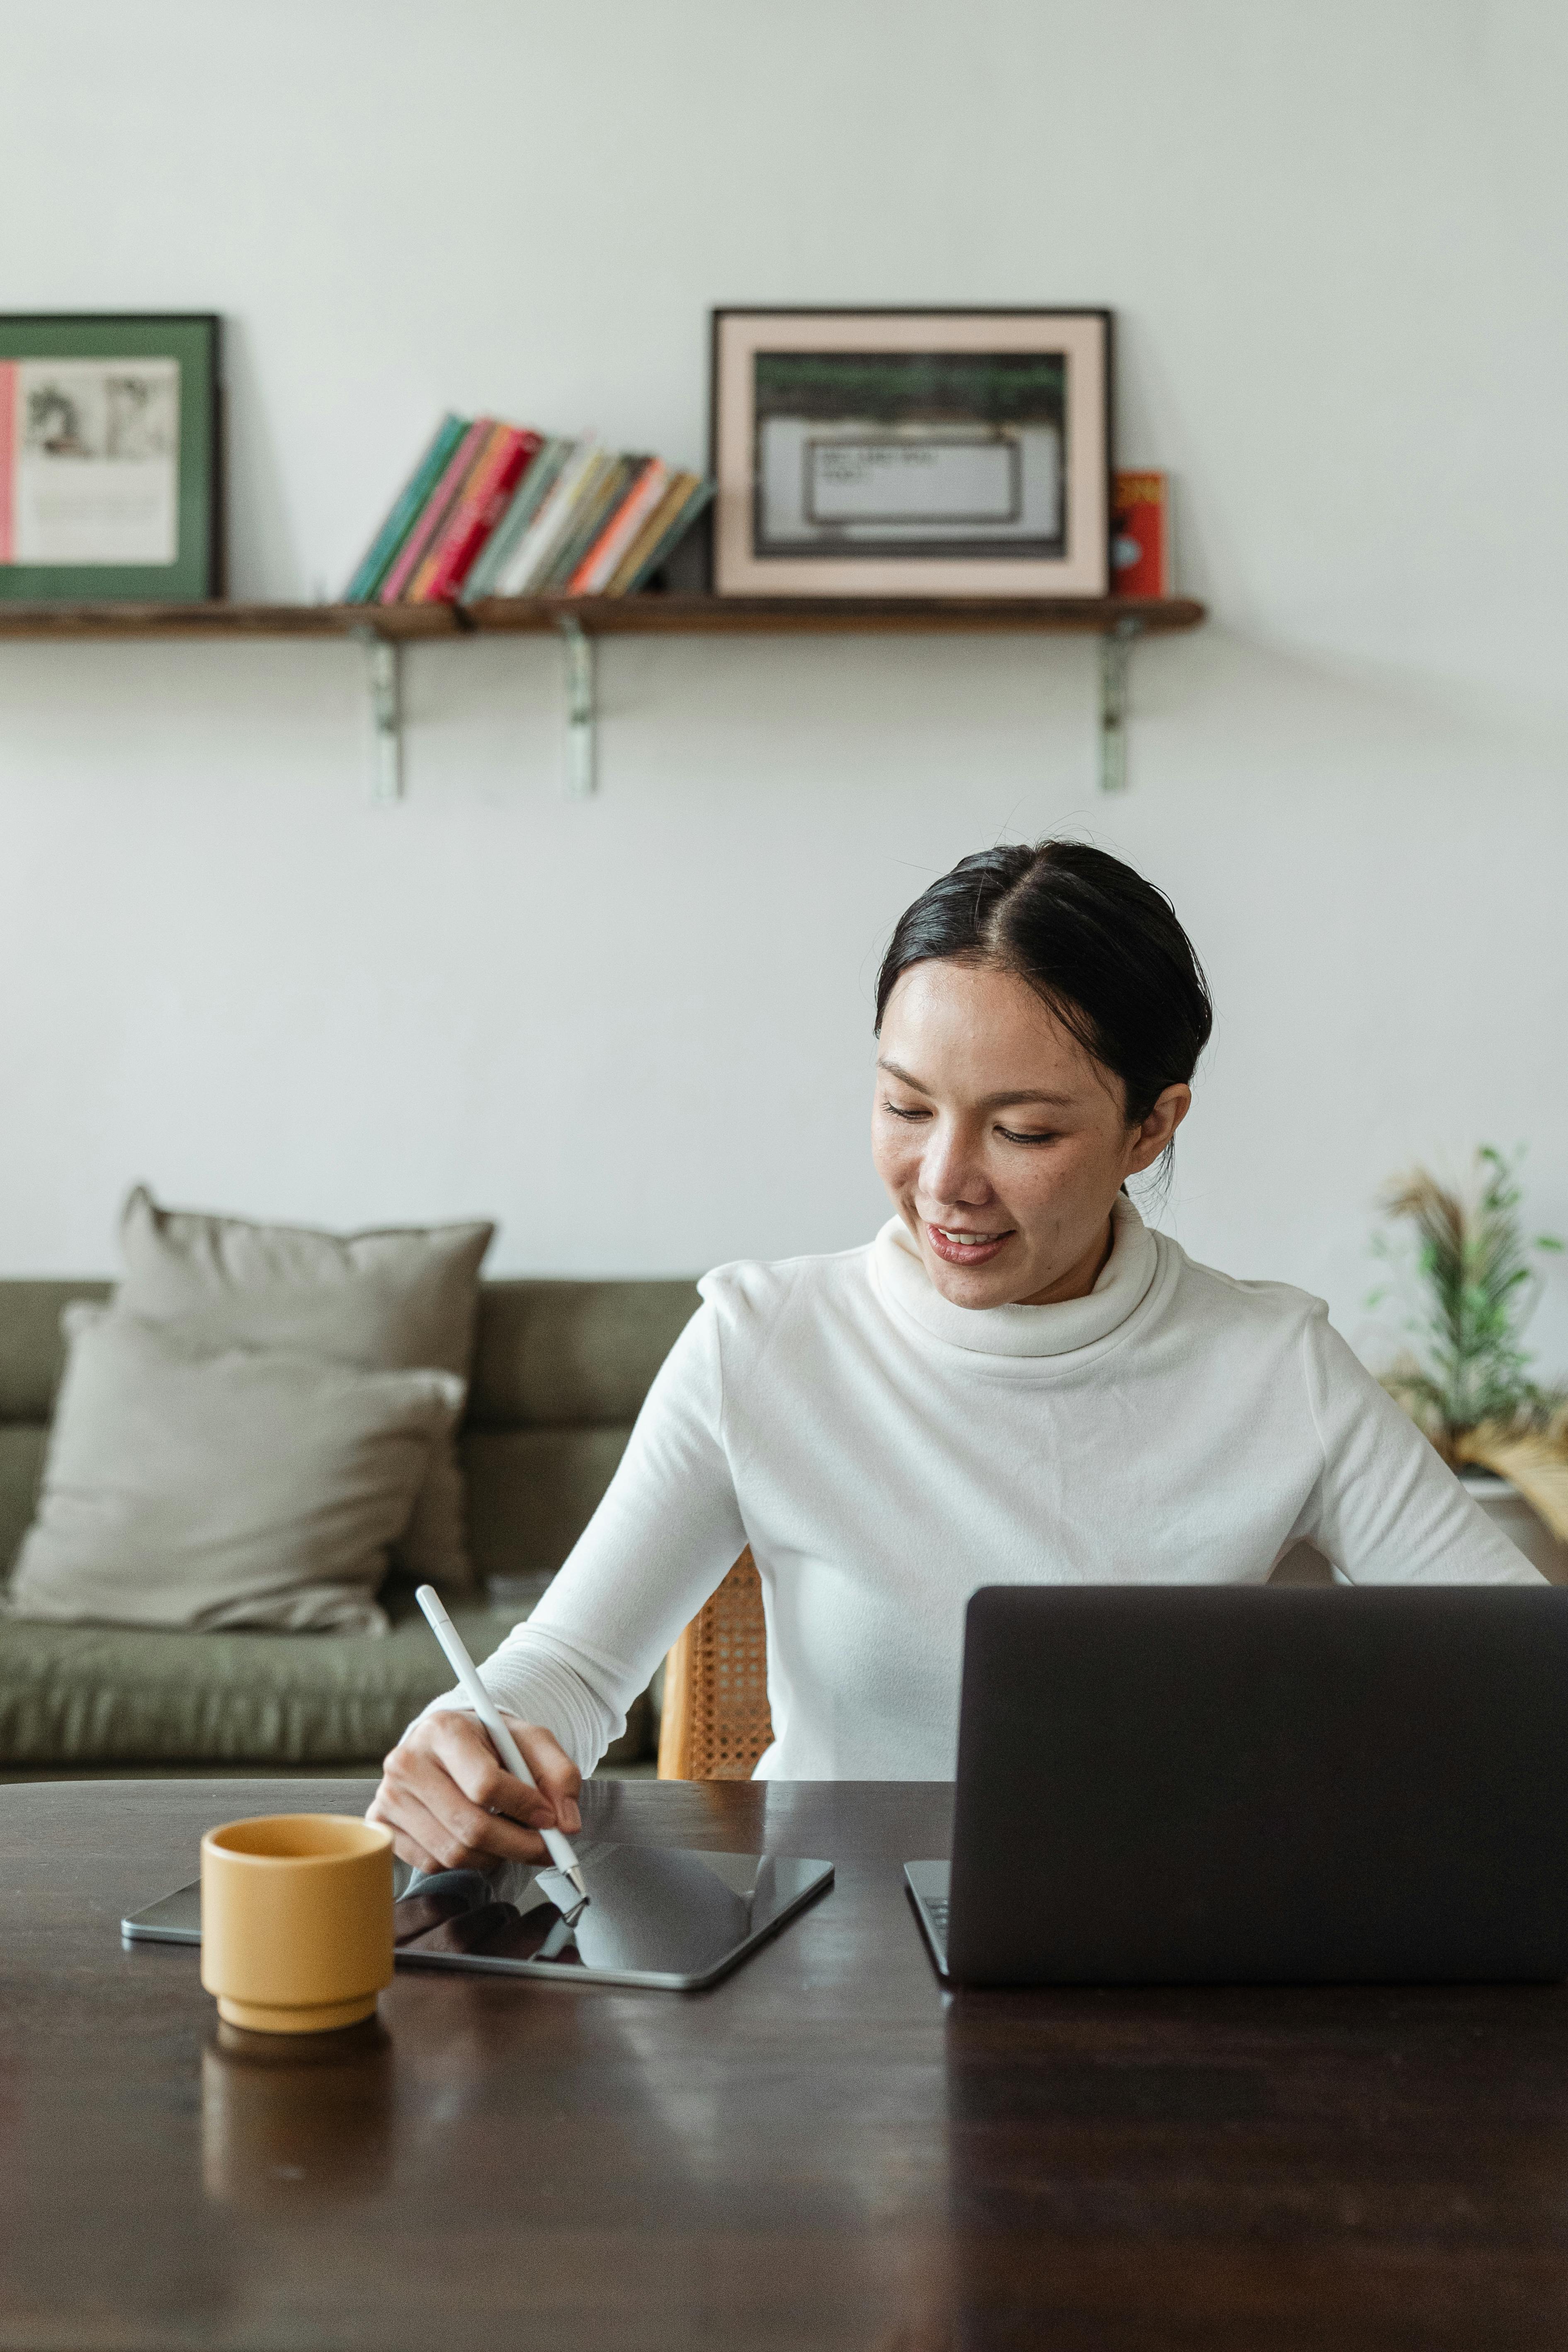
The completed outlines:
{"type": "Polygon", "coordinates": [[[346,637],[393,642],[541,635],[576,621],[590,637],[693,635],[1110,635],[1197,628],[1194,597],[487,597],[451,604],[5,604],[0,637],[346,637]]]}

